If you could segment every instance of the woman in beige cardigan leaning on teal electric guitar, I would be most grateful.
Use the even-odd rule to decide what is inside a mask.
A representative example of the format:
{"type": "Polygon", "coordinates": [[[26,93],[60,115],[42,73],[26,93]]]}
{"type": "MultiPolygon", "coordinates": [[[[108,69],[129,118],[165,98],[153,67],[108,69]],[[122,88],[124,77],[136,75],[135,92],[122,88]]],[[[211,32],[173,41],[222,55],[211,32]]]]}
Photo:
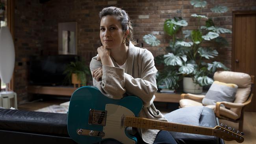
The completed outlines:
{"type": "MultiPolygon", "coordinates": [[[[132,44],[132,25],[126,11],[106,7],[99,16],[103,46],[97,49],[98,55],[90,63],[93,85],[113,99],[138,96],[144,104],[139,117],[167,121],[153,104],[157,91],[154,57],[147,49],[132,44]]],[[[136,137],[149,144],[176,143],[167,131],[139,128],[136,131],[136,137]]]]}

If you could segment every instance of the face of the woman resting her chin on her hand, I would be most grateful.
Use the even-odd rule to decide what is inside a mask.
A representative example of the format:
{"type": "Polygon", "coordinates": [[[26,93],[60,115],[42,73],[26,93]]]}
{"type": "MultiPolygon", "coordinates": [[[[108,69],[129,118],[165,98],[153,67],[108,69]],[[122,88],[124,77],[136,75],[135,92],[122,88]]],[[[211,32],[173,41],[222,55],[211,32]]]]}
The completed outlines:
{"type": "Polygon", "coordinates": [[[103,46],[109,49],[118,48],[122,44],[124,32],[115,16],[107,15],[100,21],[100,40],[103,46]]]}

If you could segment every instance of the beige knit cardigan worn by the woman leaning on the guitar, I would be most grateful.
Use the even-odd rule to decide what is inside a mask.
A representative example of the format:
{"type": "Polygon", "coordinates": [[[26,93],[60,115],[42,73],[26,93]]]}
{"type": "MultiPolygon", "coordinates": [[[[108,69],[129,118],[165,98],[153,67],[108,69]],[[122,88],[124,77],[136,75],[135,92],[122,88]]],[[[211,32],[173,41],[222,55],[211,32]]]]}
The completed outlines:
{"type": "MultiPolygon", "coordinates": [[[[93,57],[90,63],[91,72],[98,67],[102,67],[102,80],[96,81],[93,78],[93,85],[108,98],[121,99],[124,96],[134,95],[141,98],[144,107],[139,113],[139,117],[153,120],[167,121],[163,114],[154,106],[154,93],[157,91],[156,72],[154,57],[147,49],[135,47],[129,43],[127,68],[119,68],[115,60],[111,57],[115,67],[102,66],[101,61],[97,61],[97,56],[93,57]]],[[[143,140],[152,144],[159,130],[137,129],[143,140]]]]}

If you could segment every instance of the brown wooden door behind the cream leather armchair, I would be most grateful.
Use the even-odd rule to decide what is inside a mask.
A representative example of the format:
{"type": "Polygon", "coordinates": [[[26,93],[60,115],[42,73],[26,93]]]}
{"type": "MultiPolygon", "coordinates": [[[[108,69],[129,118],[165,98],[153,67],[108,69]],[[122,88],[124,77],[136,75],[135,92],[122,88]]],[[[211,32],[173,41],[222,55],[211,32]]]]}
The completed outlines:
{"type": "MultiPolygon", "coordinates": [[[[255,57],[256,11],[235,11],[233,12],[232,71],[256,76],[255,57]]],[[[252,102],[246,107],[247,111],[256,111],[254,87],[252,88],[254,97],[252,102]]]]}

